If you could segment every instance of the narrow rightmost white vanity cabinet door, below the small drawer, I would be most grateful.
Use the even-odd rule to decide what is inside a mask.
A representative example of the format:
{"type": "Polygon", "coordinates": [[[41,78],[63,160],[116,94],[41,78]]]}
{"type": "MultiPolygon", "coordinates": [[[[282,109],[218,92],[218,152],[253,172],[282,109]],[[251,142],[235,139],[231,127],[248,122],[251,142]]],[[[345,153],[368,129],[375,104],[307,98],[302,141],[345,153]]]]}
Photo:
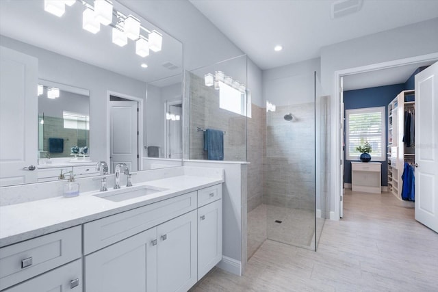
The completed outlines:
{"type": "Polygon", "coordinates": [[[222,260],[222,200],[198,209],[198,280],[222,260]]]}

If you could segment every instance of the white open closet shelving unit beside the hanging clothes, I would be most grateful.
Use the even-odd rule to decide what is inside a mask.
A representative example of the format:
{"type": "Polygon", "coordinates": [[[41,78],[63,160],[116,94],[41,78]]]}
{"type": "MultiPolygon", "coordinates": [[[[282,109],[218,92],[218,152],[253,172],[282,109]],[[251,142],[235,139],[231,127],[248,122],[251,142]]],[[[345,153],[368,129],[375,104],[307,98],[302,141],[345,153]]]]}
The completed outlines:
{"type": "Polygon", "coordinates": [[[415,101],[407,101],[407,96],[415,94],[415,90],[400,92],[388,105],[388,191],[398,200],[402,200],[402,174],[404,161],[415,161],[415,148],[406,147],[403,142],[404,136],[404,111],[413,110],[415,101]]]}

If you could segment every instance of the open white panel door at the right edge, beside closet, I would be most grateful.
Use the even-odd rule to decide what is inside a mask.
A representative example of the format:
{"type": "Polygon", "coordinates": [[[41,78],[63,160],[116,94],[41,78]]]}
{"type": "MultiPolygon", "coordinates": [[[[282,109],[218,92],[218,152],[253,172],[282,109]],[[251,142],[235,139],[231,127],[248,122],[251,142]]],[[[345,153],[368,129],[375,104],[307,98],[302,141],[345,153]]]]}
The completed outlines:
{"type": "Polygon", "coordinates": [[[415,75],[415,220],[438,232],[438,62],[415,75]]]}

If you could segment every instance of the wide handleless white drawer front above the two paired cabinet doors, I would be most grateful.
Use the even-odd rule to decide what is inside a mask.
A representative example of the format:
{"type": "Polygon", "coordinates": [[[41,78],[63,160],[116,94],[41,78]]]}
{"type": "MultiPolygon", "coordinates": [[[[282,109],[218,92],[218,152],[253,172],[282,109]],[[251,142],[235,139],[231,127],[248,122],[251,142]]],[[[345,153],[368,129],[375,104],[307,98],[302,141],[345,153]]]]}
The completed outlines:
{"type": "Polygon", "coordinates": [[[83,252],[89,254],[196,209],[196,191],[83,225],[83,252]]]}

